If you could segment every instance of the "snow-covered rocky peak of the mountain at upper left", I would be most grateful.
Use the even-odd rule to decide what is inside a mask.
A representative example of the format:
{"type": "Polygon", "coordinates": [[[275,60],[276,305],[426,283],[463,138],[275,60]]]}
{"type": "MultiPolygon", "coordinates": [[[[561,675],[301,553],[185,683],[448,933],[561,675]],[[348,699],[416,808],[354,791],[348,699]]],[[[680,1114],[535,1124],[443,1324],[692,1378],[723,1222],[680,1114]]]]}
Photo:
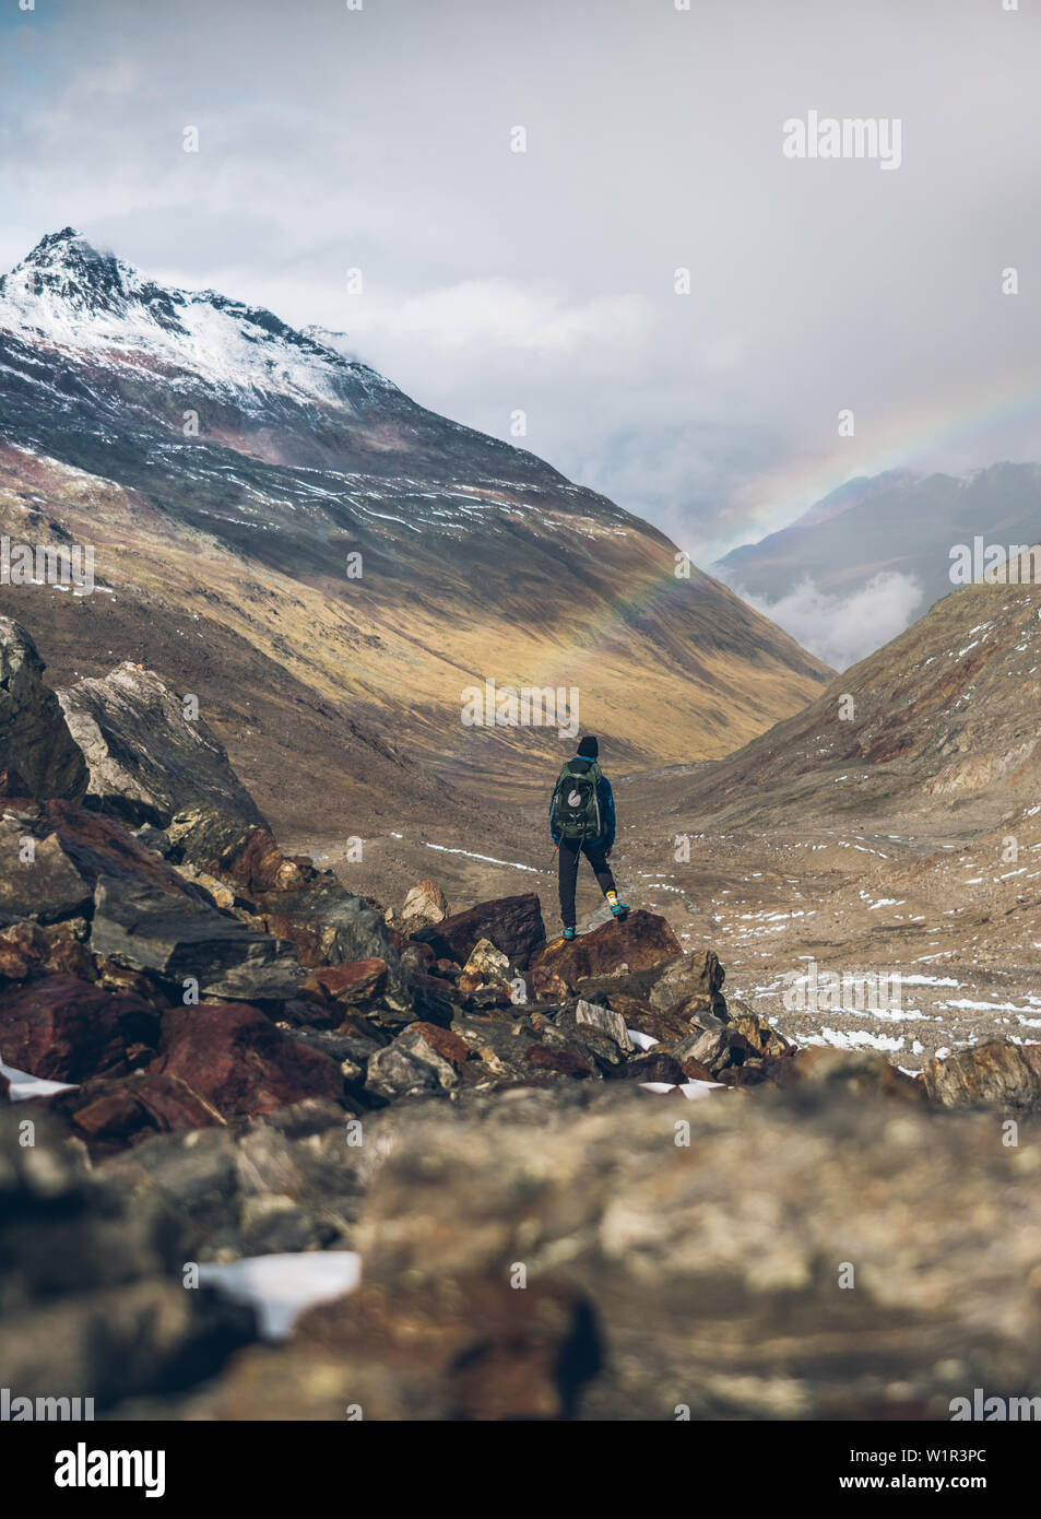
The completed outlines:
{"type": "MultiPolygon", "coordinates": [[[[68,349],[99,365],[156,363],[222,392],[341,404],[343,384],[396,387],[263,307],[215,290],[156,284],[74,228],[49,232],[0,278],[0,331],[68,349]]],[[[329,334],[332,336],[332,334],[329,334]]]]}

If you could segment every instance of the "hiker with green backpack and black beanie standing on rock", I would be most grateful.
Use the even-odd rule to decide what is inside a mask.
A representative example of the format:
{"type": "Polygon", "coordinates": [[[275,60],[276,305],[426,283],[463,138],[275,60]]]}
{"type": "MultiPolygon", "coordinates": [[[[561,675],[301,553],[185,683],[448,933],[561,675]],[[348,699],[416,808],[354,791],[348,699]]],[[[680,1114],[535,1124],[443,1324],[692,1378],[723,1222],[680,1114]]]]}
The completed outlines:
{"type": "Polygon", "coordinates": [[[610,781],[596,763],[598,755],[599,743],[592,735],[583,738],[575,758],[560,767],[549,797],[549,834],[560,863],[560,916],[565,924],[565,939],[575,937],[575,881],[580,854],[584,854],[592,864],[613,916],[624,919],[628,913],[625,902],[618,899],[615,876],[607,864],[615,845],[615,796],[610,781]]]}

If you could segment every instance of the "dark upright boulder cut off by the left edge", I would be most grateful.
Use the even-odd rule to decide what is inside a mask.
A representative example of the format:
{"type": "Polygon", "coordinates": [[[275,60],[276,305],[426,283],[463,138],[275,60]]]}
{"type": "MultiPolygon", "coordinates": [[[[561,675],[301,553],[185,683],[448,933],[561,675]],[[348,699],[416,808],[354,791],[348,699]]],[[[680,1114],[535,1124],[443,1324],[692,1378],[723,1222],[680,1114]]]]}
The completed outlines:
{"type": "Polygon", "coordinates": [[[46,668],[24,627],[0,617],[2,793],[79,797],[86,790],[86,766],[58,697],[42,682],[46,668]]]}

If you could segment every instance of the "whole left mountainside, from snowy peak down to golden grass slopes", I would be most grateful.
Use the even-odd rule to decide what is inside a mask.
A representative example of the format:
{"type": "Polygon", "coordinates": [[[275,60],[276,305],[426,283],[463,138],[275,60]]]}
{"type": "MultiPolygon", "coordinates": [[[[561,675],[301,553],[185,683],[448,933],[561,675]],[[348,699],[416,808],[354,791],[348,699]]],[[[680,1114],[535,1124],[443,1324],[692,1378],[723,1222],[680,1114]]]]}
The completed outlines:
{"type": "Polygon", "coordinates": [[[486,679],[577,688],[639,766],[725,753],[826,674],[533,454],[70,228],[0,281],[0,532],[96,550],[93,595],[0,586],[53,681],[155,665],[264,811],[316,832],[540,784],[568,740],[464,726],[486,679]]]}

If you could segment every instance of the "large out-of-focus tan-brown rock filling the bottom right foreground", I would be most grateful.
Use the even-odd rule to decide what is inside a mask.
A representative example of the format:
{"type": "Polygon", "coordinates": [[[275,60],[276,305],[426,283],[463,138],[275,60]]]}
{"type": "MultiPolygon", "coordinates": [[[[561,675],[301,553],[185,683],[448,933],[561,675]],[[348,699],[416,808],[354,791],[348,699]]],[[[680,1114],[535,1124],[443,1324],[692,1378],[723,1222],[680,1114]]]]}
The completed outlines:
{"type": "Polygon", "coordinates": [[[179,1414],[948,1419],[1041,1378],[1041,1145],[994,1115],[571,1085],[396,1109],[363,1176],[361,1291],[179,1414]]]}

